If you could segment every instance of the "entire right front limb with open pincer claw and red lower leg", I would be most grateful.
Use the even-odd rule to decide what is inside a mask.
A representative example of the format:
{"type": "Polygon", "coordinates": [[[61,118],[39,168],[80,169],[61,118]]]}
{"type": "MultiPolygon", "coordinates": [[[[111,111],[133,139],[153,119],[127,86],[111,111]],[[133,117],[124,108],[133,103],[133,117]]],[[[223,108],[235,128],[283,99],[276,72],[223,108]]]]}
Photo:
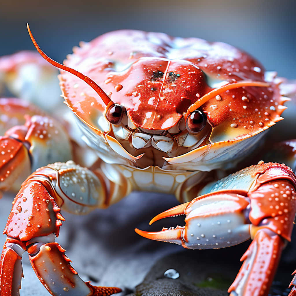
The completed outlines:
{"type": "Polygon", "coordinates": [[[151,220],[186,215],[185,226],[136,232],[190,249],[228,247],[251,238],[253,242],[241,259],[244,263],[228,291],[232,296],[266,296],[285,241],[291,237],[295,185],[296,177],[287,166],[260,163],[209,184],[207,194],[151,220]],[[236,189],[230,189],[234,185],[236,189]]]}

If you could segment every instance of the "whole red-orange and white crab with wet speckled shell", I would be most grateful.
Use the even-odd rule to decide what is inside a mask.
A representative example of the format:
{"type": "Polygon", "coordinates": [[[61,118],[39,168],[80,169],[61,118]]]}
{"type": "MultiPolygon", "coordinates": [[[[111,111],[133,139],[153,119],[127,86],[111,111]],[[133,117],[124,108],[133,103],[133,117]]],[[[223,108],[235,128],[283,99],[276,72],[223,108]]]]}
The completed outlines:
{"type": "MultiPolygon", "coordinates": [[[[4,230],[0,295],[19,295],[25,251],[52,295],[120,292],[85,283],[55,239],[61,211],[87,214],[133,190],[173,193],[180,202],[150,224],[186,215],[185,226],[135,229],[143,237],[190,249],[252,239],[228,292],[267,295],[291,240],[296,140],[263,143],[296,84],[228,44],[137,30],[81,43],[62,65],[28,31],[47,62],[29,52],[3,57],[2,80],[40,103],[40,89],[55,87],[52,64],[72,115],[62,109],[57,120],[32,103],[0,99],[0,189],[20,188],[4,230]],[[30,67],[37,77],[22,75],[30,67]]],[[[295,296],[296,276],[291,286],[295,296]]]]}

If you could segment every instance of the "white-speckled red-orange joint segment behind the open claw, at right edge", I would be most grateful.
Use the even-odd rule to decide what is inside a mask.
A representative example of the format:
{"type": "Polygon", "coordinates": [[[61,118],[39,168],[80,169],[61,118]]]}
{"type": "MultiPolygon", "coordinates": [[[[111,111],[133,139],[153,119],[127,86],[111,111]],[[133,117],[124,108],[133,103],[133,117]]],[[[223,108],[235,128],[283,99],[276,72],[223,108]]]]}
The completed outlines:
{"type": "Polygon", "coordinates": [[[291,241],[296,212],[296,176],[284,164],[269,165],[248,193],[252,209],[249,219],[253,225],[260,223],[291,241]]]}

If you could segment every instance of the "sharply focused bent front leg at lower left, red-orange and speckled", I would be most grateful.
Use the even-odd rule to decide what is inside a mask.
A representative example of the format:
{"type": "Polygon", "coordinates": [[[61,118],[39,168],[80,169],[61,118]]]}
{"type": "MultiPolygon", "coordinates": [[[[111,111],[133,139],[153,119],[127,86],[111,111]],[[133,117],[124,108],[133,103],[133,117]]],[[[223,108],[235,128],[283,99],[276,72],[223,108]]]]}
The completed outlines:
{"type": "Polygon", "coordinates": [[[100,173],[72,161],[47,165],[29,176],[15,197],[4,230],[7,242],[0,262],[0,296],[19,295],[24,251],[28,252],[39,280],[52,295],[94,296],[120,292],[119,288],[85,283],[70,266],[65,250],[54,241],[65,221],[61,208],[75,214],[88,213],[106,206],[110,201],[106,196],[106,184],[100,173]]]}

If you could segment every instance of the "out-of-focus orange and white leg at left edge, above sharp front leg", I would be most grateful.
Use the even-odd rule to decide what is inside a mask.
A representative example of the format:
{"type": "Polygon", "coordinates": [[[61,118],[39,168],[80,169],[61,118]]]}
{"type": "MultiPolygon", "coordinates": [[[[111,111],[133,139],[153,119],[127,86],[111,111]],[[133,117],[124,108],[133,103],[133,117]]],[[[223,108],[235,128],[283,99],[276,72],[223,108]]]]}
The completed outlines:
{"type": "Polygon", "coordinates": [[[18,99],[0,99],[1,109],[6,111],[1,129],[9,129],[0,136],[0,190],[18,190],[40,166],[72,157],[67,132],[56,120],[18,99]]]}

